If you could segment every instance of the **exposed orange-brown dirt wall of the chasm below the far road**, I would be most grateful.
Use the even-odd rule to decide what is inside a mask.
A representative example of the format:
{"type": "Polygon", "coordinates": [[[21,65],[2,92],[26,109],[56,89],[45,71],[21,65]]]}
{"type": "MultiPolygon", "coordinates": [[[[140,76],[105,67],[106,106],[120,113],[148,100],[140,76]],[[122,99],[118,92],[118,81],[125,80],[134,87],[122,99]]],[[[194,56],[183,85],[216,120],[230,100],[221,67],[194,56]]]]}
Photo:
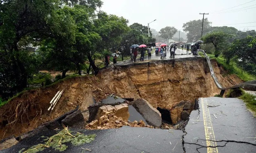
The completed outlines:
{"type": "MultiPolygon", "coordinates": [[[[216,60],[211,60],[220,83],[227,87],[242,80],[235,75],[224,75],[216,60]]],[[[153,107],[171,109],[181,100],[194,100],[220,93],[211,78],[204,58],[151,61],[109,67],[97,76],[68,79],[53,86],[30,90],[0,108],[0,139],[18,136],[38,125],[61,116],[79,105],[86,110],[96,101],[115,93],[120,97],[143,98],[153,107]],[[47,111],[50,100],[59,90],[64,93],[55,109],[47,111]]]]}

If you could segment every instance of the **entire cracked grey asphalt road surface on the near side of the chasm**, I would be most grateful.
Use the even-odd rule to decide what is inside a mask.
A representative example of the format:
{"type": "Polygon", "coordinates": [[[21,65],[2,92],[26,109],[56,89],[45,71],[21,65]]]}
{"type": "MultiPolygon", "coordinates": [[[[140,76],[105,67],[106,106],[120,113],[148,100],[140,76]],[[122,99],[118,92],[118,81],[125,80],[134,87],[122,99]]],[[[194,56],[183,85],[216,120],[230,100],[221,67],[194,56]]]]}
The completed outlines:
{"type": "MultiPolygon", "coordinates": [[[[96,134],[89,144],[69,147],[62,153],[256,153],[256,118],[237,98],[199,98],[199,109],[190,114],[185,130],[124,126],[119,129],[80,130],[96,134]],[[91,151],[85,151],[88,148],[91,151]]],[[[55,130],[41,129],[19,144],[0,151],[18,153],[42,143],[55,130]]],[[[57,153],[52,148],[42,152],[57,153]]]]}

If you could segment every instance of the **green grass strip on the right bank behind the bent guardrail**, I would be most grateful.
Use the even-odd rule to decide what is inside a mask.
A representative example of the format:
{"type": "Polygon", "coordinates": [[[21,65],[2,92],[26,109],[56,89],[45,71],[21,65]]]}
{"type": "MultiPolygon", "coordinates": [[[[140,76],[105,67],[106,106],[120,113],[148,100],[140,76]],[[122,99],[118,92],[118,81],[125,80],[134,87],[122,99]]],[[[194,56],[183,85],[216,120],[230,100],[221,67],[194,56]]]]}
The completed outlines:
{"type": "MultiPolygon", "coordinates": [[[[203,53],[199,53],[199,55],[204,57],[203,53]]],[[[248,72],[244,71],[242,68],[238,67],[237,63],[235,63],[234,61],[230,61],[230,63],[227,64],[223,56],[219,56],[218,58],[214,57],[214,55],[212,54],[207,54],[207,56],[211,59],[217,60],[218,64],[223,66],[223,68],[227,70],[229,74],[236,74],[240,79],[244,81],[256,79],[255,75],[249,74],[248,72]]]]}

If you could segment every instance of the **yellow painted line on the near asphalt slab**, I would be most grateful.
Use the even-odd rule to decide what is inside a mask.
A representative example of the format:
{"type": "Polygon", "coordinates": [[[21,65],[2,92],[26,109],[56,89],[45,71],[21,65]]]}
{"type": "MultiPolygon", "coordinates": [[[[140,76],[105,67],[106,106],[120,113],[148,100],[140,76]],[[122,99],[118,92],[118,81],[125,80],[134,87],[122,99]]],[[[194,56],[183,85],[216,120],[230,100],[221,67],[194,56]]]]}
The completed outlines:
{"type": "Polygon", "coordinates": [[[201,98],[201,104],[202,104],[203,117],[204,117],[204,132],[205,132],[205,138],[206,138],[207,153],[218,153],[218,148],[215,147],[217,146],[217,143],[215,142],[216,140],[213,132],[213,125],[211,123],[211,116],[209,113],[209,109],[207,107],[206,98],[204,98],[204,100],[203,98],[201,98]]]}

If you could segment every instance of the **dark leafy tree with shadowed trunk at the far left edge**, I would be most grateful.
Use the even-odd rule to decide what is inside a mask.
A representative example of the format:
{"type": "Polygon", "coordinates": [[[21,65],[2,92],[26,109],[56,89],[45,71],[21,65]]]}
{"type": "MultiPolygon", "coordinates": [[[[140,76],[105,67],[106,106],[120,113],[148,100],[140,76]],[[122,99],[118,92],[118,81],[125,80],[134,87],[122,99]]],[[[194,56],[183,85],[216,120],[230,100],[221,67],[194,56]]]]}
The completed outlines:
{"type": "MultiPolygon", "coordinates": [[[[0,49],[5,51],[10,59],[9,65],[14,72],[17,91],[27,86],[27,79],[31,73],[26,66],[26,55],[21,53],[19,46],[24,37],[36,36],[56,37],[63,36],[72,42],[72,27],[62,28],[63,21],[71,21],[69,16],[58,14],[60,3],[56,0],[5,0],[0,5],[0,49]],[[24,57],[25,56],[25,57],[24,57]]],[[[67,22],[66,22],[67,23],[67,22]]],[[[67,24],[67,26],[70,24],[67,24]]],[[[1,55],[2,56],[2,55],[1,55]]]]}

